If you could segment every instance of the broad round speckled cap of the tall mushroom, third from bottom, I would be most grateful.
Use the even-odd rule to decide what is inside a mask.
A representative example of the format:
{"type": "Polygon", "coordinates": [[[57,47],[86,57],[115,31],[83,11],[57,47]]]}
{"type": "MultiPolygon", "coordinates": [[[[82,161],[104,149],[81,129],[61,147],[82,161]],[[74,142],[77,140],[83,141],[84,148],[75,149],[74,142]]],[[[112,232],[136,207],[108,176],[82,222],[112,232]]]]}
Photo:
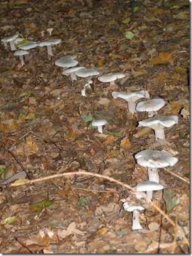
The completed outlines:
{"type": "Polygon", "coordinates": [[[177,157],[172,157],[167,152],[150,149],[136,153],[135,158],[139,165],[150,168],[174,166],[178,162],[177,157]]]}

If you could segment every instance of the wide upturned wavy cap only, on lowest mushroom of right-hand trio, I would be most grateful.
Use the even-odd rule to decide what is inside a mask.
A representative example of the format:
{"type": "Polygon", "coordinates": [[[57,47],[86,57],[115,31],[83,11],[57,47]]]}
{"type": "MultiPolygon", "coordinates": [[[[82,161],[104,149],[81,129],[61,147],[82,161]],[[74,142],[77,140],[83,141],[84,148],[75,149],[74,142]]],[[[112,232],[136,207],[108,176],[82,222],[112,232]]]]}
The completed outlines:
{"type": "Polygon", "coordinates": [[[138,123],[138,126],[147,126],[155,130],[160,130],[164,127],[171,127],[174,124],[178,124],[178,117],[177,115],[155,115],[138,123]]]}

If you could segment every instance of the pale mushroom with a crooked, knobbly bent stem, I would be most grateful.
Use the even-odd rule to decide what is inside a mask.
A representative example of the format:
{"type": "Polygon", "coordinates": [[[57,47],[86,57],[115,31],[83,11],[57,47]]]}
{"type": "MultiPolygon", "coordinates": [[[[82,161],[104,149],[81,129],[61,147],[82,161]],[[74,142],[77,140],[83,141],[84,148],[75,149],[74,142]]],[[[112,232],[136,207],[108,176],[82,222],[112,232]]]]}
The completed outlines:
{"type": "Polygon", "coordinates": [[[85,88],[86,87],[90,88],[90,84],[92,84],[92,82],[93,82],[91,80],[92,75],[99,75],[99,72],[93,68],[90,68],[90,69],[81,68],[75,72],[75,75],[77,75],[78,77],[87,77],[87,83],[85,84],[83,90],[81,91],[81,95],[83,94],[82,96],[86,96],[85,88]]]}

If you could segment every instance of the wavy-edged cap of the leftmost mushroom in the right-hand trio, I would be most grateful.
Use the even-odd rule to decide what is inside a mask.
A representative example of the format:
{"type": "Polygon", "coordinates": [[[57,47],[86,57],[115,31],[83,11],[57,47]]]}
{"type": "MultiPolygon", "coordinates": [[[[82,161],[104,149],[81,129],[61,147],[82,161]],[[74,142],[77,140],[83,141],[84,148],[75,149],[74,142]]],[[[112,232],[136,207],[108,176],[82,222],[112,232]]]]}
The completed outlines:
{"type": "Polygon", "coordinates": [[[145,91],[145,90],[136,91],[136,92],[133,92],[133,93],[112,92],[111,95],[114,99],[121,98],[121,99],[125,99],[126,101],[129,101],[129,102],[135,102],[140,98],[144,98],[144,97],[149,98],[149,96],[150,96],[148,94],[148,92],[145,91]]]}

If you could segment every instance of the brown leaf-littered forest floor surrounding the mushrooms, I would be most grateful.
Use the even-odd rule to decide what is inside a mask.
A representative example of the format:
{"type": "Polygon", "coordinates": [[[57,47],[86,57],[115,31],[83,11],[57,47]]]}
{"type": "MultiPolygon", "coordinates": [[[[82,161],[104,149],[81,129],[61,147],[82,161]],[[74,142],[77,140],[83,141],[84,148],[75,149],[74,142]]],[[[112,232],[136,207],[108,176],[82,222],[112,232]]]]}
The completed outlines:
{"type": "Polygon", "coordinates": [[[189,253],[189,2],[9,0],[0,13],[1,39],[61,39],[51,60],[37,47],[23,67],[0,44],[0,252],[189,253]],[[54,64],[63,56],[100,73],[87,97],[85,79],[71,84],[54,64]],[[126,77],[114,85],[97,79],[110,72],[126,77]],[[166,141],[155,143],[153,131],[138,127],[147,112],[133,115],[111,96],[143,89],[164,99],[159,115],[179,118],[165,128],[166,141]],[[90,126],[94,118],[107,120],[102,134],[90,126]],[[110,178],[131,188],[147,181],[134,157],[147,148],[179,160],[160,169],[164,189],[153,192],[156,207],[144,203],[143,229],[134,231],[121,201],[130,189],[110,178]],[[81,171],[109,179],[71,174],[9,186],[26,173],[81,171]]]}

